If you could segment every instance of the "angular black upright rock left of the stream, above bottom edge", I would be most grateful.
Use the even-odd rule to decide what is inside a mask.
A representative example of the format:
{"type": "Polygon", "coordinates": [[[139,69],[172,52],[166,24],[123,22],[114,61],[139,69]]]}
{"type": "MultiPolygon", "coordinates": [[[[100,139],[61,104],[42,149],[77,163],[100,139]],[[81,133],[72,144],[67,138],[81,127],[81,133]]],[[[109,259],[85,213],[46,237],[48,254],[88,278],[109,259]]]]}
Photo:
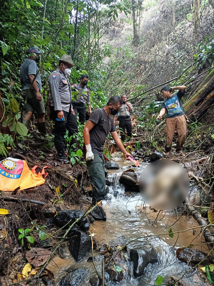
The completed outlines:
{"type": "Polygon", "coordinates": [[[69,250],[74,259],[79,262],[91,250],[91,238],[83,231],[75,230],[69,242],[69,250]]]}

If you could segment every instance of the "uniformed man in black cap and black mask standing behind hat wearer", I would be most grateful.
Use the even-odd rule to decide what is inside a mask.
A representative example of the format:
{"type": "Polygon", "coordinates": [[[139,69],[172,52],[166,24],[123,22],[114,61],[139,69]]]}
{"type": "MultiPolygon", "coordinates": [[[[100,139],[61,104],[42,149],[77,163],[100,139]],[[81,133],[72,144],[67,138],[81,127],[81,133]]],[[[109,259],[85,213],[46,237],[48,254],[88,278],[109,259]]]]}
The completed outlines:
{"type": "Polygon", "coordinates": [[[79,122],[84,124],[86,116],[86,104],[88,105],[89,113],[91,115],[91,105],[90,105],[90,93],[89,89],[86,87],[88,83],[88,76],[85,74],[81,75],[80,83],[72,85],[73,100],[72,105],[75,112],[75,117],[79,113],[79,122]]]}

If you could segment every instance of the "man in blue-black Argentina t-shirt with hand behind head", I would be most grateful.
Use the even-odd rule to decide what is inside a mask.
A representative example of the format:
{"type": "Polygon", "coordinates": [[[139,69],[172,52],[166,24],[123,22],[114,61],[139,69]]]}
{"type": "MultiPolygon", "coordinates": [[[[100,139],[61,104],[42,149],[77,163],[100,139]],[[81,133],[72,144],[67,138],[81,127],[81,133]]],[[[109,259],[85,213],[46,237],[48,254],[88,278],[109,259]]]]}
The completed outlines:
{"type": "Polygon", "coordinates": [[[164,128],[164,134],[166,136],[165,142],[165,155],[168,155],[172,148],[172,139],[175,133],[175,129],[178,133],[176,142],[176,152],[181,153],[183,144],[186,139],[187,126],[186,116],[182,106],[181,98],[184,95],[186,86],[163,86],[160,90],[165,100],[161,104],[160,114],[156,119],[162,119],[165,111],[167,111],[166,125],[164,128]],[[178,90],[173,94],[174,90],[178,90]]]}

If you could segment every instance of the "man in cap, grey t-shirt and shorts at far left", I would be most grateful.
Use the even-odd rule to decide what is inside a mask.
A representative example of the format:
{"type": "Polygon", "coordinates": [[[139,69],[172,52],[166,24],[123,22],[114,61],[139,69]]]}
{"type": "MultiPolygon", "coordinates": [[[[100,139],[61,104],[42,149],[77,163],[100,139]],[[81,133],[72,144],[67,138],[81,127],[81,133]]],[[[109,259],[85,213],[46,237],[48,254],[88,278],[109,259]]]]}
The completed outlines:
{"type": "Polygon", "coordinates": [[[23,124],[28,128],[31,117],[34,112],[37,113],[37,126],[42,136],[46,135],[46,122],[45,122],[45,106],[41,95],[42,82],[40,72],[37,74],[30,90],[32,80],[38,71],[37,64],[39,62],[39,55],[41,54],[36,48],[29,48],[27,50],[28,58],[20,67],[20,81],[22,86],[22,97],[25,99],[27,95],[26,115],[23,119],[23,124]]]}

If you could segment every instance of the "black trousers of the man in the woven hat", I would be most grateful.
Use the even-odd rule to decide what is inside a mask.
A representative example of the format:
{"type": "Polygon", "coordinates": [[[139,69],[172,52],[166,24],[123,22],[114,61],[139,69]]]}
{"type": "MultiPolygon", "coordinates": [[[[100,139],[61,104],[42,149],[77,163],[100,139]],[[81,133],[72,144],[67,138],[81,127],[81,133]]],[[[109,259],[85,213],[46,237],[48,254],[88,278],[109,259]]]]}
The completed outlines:
{"type": "MultiPolygon", "coordinates": [[[[60,151],[64,151],[64,136],[66,134],[66,130],[68,130],[68,137],[78,132],[78,123],[76,121],[75,116],[71,112],[71,109],[69,110],[69,112],[66,112],[64,110],[62,111],[64,113],[65,121],[58,121],[56,120],[57,112],[54,110],[53,106],[50,106],[50,117],[54,122],[54,144],[58,153],[61,153],[60,151]]],[[[75,142],[76,138],[73,138],[71,144],[75,142]]]]}

